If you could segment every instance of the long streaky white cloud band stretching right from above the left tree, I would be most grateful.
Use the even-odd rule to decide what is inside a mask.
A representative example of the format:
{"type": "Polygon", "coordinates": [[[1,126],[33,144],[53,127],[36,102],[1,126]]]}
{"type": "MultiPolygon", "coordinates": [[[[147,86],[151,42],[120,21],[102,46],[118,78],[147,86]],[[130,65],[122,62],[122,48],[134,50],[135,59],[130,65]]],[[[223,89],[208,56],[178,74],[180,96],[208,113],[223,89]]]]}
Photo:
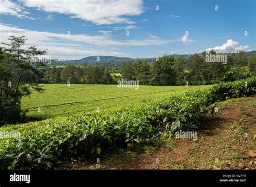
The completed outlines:
{"type": "MultiPolygon", "coordinates": [[[[1,34],[2,39],[8,38],[8,31],[11,31],[12,35],[25,35],[29,41],[31,41],[32,45],[41,45],[42,42],[56,42],[59,40],[67,40],[72,42],[79,42],[83,44],[91,44],[95,46],[149,46],[149,45],[163,45],[169,44],[173,42],[180,41],[180,39],[171,39],[164,40],[156,37],[154,35],[150,35],[149,38],[146,39],[127,39],[127,40],[118,40],[112,37],[110,34],[111,31],[99,31],[102,34],[98,35],[88,35],[88,34],[76,34],[73,35],[72,32],[70,35],[65,33],[51,33],[51,32],[39,32],[39,31],[31,31],[25,30],[23,28],[8,26],[4,24],[0,24],[1,26],[1,34]]],[[[6,40],[7,41],[7,40],[6,40]]],[[[59,44],[61,45],[61,43],[59,44]]]]}

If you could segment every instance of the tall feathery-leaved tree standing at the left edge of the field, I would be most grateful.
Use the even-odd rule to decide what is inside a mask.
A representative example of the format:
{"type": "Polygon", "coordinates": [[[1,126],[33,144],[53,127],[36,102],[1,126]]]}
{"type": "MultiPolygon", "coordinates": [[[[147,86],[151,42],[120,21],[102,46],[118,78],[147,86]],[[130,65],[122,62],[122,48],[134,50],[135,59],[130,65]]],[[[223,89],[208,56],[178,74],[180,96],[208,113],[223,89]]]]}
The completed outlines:
{"type": "Polygon", "coordinates": [[[18,123],[24,120],[25,111],[21,109],[21,98],[28,96],[31,89],[42,91],[35,83],[24,83],[22,77],[26,71],[39,75],[35,67],[42,66],[34,61],[32,56],[44,55],[46,51],[39,51],[36,47],[24,49],[26,38],[10,36],[10,44],[0,47],[0,124],[18,123]]]}

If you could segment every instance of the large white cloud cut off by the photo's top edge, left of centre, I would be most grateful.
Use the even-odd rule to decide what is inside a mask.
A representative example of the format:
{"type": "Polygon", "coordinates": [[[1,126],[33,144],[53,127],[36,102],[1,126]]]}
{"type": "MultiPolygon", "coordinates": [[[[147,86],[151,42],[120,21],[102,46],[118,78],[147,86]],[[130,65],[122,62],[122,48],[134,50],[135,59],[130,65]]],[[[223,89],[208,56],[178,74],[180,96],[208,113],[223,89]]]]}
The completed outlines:
{"type": "Polygon", "coordinates": [[[127,16],[138,16],[143,13],[142,0],[72,0],[72,1],[31,1],[19,0],[28,7],[41,8],[45,12],[57,12],[91,21],[97,25],[127,23],[133,24],[127,16]]]}

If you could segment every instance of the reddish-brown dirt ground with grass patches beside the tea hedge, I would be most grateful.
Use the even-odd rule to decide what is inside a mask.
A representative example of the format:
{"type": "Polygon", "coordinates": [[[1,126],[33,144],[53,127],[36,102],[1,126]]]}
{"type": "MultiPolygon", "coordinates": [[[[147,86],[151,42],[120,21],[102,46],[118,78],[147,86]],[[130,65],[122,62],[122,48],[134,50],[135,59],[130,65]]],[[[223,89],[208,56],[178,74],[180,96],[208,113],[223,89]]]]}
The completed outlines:
{"type": "Polygon", "coordinates": [[[139,150],[117,150],[100,163],[80,160],[65,168],[256,169],[256,96],[227,100],[217,107],[217,118],[204,121],[196,141],[166,138],[139,150]]]}

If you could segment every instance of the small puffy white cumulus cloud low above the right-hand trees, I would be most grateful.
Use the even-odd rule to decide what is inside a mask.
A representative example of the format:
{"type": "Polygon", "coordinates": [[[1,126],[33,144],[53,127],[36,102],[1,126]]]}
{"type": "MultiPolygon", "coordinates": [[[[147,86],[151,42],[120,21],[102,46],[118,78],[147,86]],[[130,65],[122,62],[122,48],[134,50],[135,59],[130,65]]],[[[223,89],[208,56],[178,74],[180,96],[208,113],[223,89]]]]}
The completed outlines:
{"type": "Polygon", "coordinates": [[[221,46],[215,46],[212,48],[207,48],[206,51],[211,51],[212,49],[217,53],[227,53],[227,52],[237,52],[244,51],[248,49],[249,46],[238,46],[237,41],[233,41],[232,39],[227,40],[227,42],[221,46]]]}

